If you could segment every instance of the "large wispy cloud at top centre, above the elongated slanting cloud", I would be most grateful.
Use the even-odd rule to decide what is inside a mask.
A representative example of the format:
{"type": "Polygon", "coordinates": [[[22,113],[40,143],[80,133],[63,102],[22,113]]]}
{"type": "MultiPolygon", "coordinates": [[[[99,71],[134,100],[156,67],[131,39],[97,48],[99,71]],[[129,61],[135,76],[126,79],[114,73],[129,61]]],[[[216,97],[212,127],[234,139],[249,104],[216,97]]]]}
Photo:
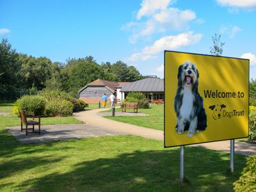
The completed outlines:
{"type": "MultiPolygon", "coordinates": [[[[147,40],[150,35],[168,30],[188,29],[189,22],[196,19],[196,13],[192,10],[168,7],[173,1],[143,0],[141,9],[137,13],[136,22],[129,22],[121,27],[122,30],[132,32],[129,42],[135,44],[139,38],[147,40]],[[141,17],[143,16],[146,19],[142,20],[141,17]]],[[[204,20],[200,19],[195,23],[200,24],[202,22],[204,20]]]]}

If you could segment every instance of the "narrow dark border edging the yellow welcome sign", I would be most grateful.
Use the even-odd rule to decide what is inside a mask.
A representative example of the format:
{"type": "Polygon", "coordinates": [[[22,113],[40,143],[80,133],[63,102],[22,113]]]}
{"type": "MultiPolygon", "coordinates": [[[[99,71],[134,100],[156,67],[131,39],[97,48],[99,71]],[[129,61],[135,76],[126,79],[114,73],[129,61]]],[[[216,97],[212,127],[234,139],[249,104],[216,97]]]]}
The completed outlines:
{"type": "MultiPolygon", "coordinates": [[[[246,137],[241,137],[241,138],[229,138],[227,140],[236,140],[236,139],[242,139],[242,138],[248,138],[249,136],[249,114],[250,114],[250,109],[249,109],[249,99],[250,99],[250,60],[244,59],[244,58],[232,58],[228,56],[215,56],[211,54],[199,54],[199,53],[193,53],[193,52],[180,52],[180,51],[167,51],[164,50],[164,99],[165,97],[165,53],[166,52],[177,52],[177,53],[185,53],[185,54],[196,54],[200,56],[212,56],[212,57],[217,57],[217,58],[230,58],[230,59],[237,59],[237,60],[247,60],[248,61],[248,135],[246,137]]],[[[216,141],[227,141],[227,140],[214,140],[214,141],[206,141],[206,142],[200,142],[200,143],[189,143],[185,145],[195,145],[195,144],[201,144],[201,143],[211,143],[211,142],[216,142],[216,141]]],[[[165,102],[164,102],[164,148],[170,148],[170,147],[179,147],[179,146],[185,146],[185,145],[173,145],[173,146],[166,146],[165,145],[165,102]]]]}

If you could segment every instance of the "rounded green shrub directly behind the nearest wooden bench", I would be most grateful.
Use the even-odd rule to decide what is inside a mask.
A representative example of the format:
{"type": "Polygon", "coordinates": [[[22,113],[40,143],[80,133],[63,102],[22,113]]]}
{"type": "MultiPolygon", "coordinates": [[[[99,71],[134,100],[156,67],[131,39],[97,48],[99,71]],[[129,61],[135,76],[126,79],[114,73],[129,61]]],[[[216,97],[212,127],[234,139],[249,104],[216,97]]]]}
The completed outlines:
{"type": "Polygon", "coordinates": [[[27,114],[43,115],[45,109],[45,99],[39,95],[24,95],[18,101],[19,108],[27,114]]]}

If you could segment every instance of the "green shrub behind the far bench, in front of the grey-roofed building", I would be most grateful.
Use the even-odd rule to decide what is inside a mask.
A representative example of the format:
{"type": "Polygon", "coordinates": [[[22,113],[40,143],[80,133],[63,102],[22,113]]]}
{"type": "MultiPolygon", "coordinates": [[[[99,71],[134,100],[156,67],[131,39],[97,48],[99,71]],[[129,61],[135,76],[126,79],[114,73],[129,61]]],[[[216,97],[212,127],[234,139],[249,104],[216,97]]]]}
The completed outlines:
{"type": "Polygon", "coordinates": [[[148,101],[144,93],[130,92],[125,98],[124,102],[139,102],[139,108],[147,109],[149,107],[148,101]]]}

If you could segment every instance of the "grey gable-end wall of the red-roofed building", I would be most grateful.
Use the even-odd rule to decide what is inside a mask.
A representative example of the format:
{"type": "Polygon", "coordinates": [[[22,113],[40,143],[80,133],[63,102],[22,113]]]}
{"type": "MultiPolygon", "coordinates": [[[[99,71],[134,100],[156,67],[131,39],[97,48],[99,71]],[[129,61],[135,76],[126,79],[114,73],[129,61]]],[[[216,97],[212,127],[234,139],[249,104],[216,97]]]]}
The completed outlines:
{"type": "Polygon", "coordinates": [[[108,98],[111,95],[111,91],[104,86],[88,86],[79,93],[79,99],[84,100],[84,102],[99,102],[104,93],[108,98]]]}

